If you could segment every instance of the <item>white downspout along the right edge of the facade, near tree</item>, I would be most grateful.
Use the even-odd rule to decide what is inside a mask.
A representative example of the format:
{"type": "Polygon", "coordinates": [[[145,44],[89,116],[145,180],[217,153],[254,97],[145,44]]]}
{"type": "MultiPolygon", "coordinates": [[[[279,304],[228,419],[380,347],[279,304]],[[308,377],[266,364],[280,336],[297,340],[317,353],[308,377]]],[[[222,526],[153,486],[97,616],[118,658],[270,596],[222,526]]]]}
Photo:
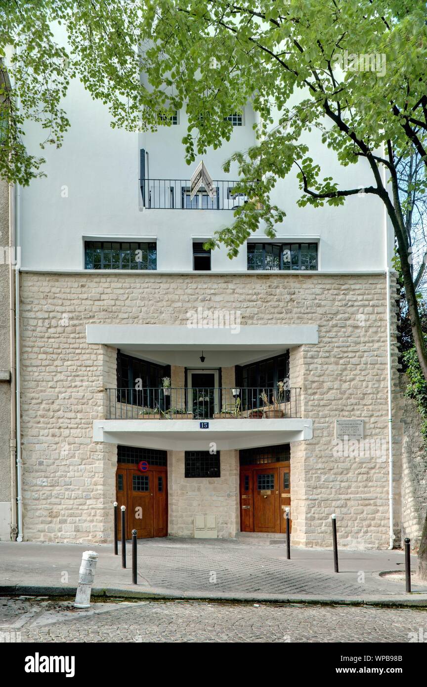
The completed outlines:
{"type": "MultiPolygon", "coordinates": [[[[383,150],[384,153],[384,150],[383,150]]],[[[385,156],[383,156],[385,157],[385,156]]],[[[387,183],[386,170],[382,170],[384,188],[387,183]]],[[[387,299],[387,395],[388,395],[388,425],[389,425],[389,549],[394,546],[395,534],[393,528],[393,414],[391,395],[391,304],[390,304],[390,267],[389,267],[389,232],[387,229],[387,211],[384,205],[384,262],[386,268],[386,299],[387,299]]]]}

